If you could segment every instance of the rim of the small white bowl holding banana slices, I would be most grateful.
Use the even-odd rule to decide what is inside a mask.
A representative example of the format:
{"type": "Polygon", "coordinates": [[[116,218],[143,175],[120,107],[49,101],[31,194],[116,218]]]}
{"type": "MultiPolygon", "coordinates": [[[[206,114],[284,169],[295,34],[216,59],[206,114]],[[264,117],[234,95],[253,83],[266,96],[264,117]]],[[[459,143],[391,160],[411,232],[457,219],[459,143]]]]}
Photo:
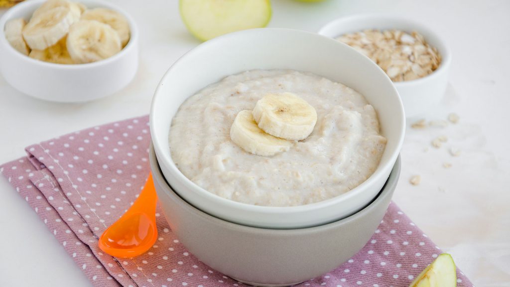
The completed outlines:
{"type": "Polygon", "coordinates": [[[29,63],[34,64],[34,65],[42,65],[42,66],[46,66],[48,68],[60,68],[60,69],[64,69],[64,70],[75,70],[75,69],[94,68],[96,66],[108,65],[109,63],[114,62],[119,58],[122,58],[124,55],[129,53],[129,50],[136,49],[136,43],[138,42],[138,27],[136,25],[135,20],[133,19],[133,17],[131,17],[131,15],[129,13],[127,13],[124,9],[120,8],[119,6],[112,4],[110,2],[106,2],[104,0],[79,0],[79,2],[82,4],[97,6],[94,8],[112,9],[116,12],[119,12],[120,14],[122,14],[122,16],[124,16],[127,19],[127,22],[130,25],[130,39],[127,42],[127,44],[117,54],[115,54],[111,57],[108,57],[106,59],[103,59],[103,60],[99,60],[99,61],[92,62],[92,63],[84,63],[84,64],[50,63],[50,62],[36,60],[36,59],[29,57],[28,55],[21,54],[16,49],[14,49],[14,47],[7,41],[7,38],[4,33],[5,25],[6,25],[7,21],[14,19],[13,14],[18,12],[19,10],[22,10],[22,9],[25,9],[28,7],[38,7],[46,1],[47,0],[23,1],[21,3],[14,5],[13,7],[11,7],[0,18],[0,45],[6,46],[6,49],[8,49],[8,51],[10,51],[12,54],[14,54],[15,57],[19,57],[21,60],[28,61],[29,63]]]}

